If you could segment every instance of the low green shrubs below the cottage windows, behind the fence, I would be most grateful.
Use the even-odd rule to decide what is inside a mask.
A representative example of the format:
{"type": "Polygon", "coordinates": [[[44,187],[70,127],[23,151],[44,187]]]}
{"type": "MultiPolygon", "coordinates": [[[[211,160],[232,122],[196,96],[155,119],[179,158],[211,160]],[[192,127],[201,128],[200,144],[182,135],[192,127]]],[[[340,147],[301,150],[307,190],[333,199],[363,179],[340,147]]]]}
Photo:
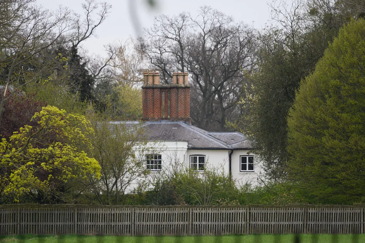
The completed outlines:
{"type": "Polygon", "coordinates": [[[172,177],[159,177],[154,189],[130,195],[134,205],[287,205],[311,201],[296,184],[267,183],[238,187],[224,173],[183,170],[172,177]]]}

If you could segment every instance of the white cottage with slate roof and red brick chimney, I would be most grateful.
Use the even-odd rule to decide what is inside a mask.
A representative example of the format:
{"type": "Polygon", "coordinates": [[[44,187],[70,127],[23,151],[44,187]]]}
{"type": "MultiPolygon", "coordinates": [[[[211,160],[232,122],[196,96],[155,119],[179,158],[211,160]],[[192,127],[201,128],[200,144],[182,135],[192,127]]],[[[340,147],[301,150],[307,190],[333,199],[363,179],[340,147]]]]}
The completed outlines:
{"type": "Polygon", "coordinates": [[[151,173],[158,175],[172,165],[198,171],[213,166],[239,184],[258,183],[261,162],[250,153],[251,143],[242,133],[207,132],[191,125],[188,73],[174,73],[170,85],[160,84],[158,72],[145,73],[144,78],[142,126],[150,146],[159,147],[159,152],[145,155],[151,173]]]}

